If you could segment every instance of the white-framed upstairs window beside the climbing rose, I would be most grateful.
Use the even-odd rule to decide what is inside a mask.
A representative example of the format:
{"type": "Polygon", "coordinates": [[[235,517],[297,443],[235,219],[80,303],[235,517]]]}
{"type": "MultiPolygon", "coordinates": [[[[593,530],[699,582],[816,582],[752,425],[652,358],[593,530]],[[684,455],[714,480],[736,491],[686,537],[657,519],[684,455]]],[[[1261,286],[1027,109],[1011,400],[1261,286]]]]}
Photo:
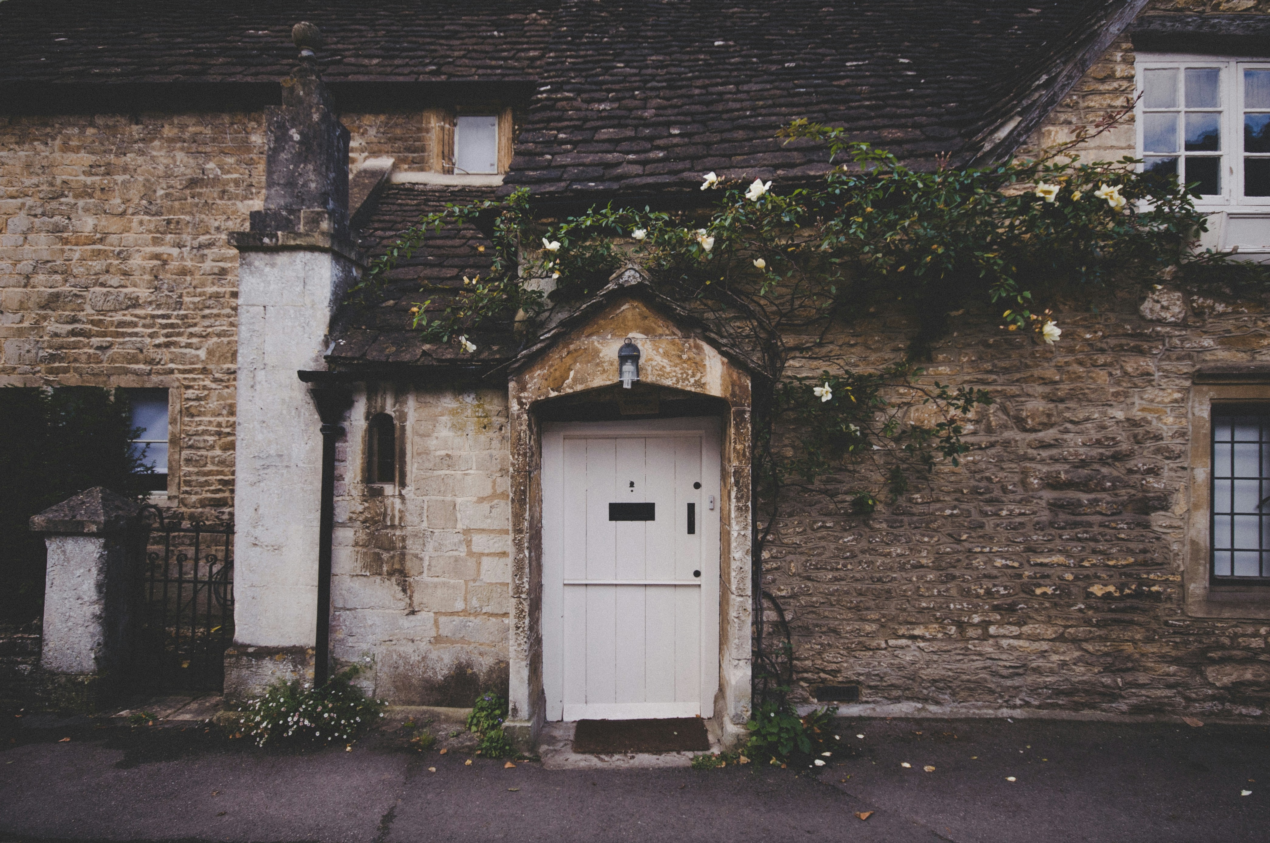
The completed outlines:
{"type": "Polygon", "coordinates": [[[1270,61],[1139,53],[1138,157],[1195,184],[1203,245],[1270,253],[1270,61]]]}

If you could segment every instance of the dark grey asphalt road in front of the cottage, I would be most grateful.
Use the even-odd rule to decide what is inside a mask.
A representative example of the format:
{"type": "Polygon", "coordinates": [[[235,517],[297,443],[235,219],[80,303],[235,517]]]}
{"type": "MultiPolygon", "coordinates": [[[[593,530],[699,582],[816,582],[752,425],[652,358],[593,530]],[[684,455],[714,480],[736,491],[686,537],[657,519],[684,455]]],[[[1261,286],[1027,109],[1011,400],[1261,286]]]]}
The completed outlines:
{"type": "Polygon", "coordinates": [[[843,748],[815,772],[547,771],[387,734],[352,752],[258,750],[201,726],[28,717],[0,731],[0,843],[1270,840],[1270,727],[839,726],[843,748]]]}

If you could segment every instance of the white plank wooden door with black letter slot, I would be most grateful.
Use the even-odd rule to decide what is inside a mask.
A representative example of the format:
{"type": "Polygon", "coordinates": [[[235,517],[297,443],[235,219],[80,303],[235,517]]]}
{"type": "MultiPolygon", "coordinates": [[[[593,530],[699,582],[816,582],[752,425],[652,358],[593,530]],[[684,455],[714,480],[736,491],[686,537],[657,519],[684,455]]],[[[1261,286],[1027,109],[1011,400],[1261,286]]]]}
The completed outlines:
{"type": "Polygon", "coordinates": [[[542,682],[549,720],[712,714],[719,427],[549,424],[542,682]]]}

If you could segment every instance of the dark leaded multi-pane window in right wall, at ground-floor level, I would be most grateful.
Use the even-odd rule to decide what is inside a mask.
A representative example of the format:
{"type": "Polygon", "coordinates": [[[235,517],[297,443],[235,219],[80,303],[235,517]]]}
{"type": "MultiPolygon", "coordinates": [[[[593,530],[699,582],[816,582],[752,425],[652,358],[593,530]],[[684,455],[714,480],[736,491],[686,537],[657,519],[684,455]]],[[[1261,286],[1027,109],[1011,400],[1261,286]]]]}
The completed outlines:
{"type": "Polygon", "coordinates": [[[1270,406],[1213,408],[1213,579],[1270,583],[1270,406]]]}

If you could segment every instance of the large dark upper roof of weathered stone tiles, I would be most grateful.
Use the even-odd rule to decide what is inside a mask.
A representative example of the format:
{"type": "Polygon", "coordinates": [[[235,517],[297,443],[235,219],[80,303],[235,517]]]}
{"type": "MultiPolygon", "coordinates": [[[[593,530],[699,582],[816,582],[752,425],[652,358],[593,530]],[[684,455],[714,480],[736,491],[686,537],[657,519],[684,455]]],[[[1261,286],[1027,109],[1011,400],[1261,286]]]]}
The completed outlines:
{"type": "MultiPolygon", "coordinates": [[[[293,62],[291,25],[309,19],[328,39],[324,76],[347,103],[358,85],[395,86],[401,96],[519,85],[528,102],[508,185],[580,197],[687,190],[707,170],[780,179],[824,171],[822,150],[772,137],[796,117],[846,124],[916,163],[980,155],[987,141],[996,149],[1010,140],[992,135],[1010,102],[1035,100],[1035,88],[1049,91],[1071,75],[1055,66],[1087,67],[1107,23],[1123,25],[1142,5],[8,0],[0,96],[25,90],[56,100],[50,89],[174,83],[268,89],[293,62]]],[[[1050,93],[1043,99],[1063,91],[1050,93]]],[[[1015,128],[1019,140],[1027,127],[1015,128]]]]}

